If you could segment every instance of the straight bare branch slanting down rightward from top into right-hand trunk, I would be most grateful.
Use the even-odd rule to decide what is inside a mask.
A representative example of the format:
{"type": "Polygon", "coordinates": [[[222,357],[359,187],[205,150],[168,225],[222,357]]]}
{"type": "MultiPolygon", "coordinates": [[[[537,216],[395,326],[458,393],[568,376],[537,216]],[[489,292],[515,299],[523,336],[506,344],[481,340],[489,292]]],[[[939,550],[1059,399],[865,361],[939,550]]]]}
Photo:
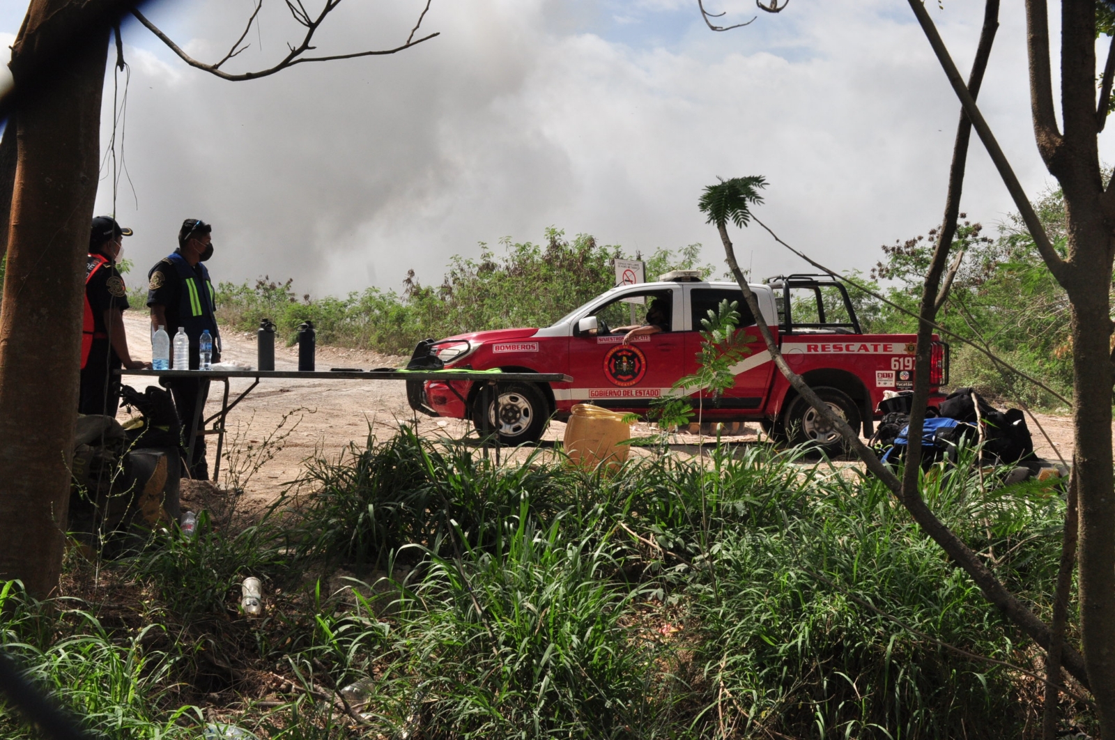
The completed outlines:
{"type": "MultiPolygon", "coordinates": [[[[1002,148],[999,146],[999,142],[996,140],[995,134],[991,133],[991,127],[988,126],[987,120],[985,120],[983,114],[981,114],[979,107],[977,107],[976,99],[972,98],[971,91],[969,91],[968,86],[964,85],[963,78],[960,77],[960,72],[957,70],[957,66],[953,64],[952,57],[949,55],[949,50],[944,46],[944,41],[941,40],[941,35],[937,32],[933,19],[929,17],[929,12],[921,4],[921,0],[909,0],[909,2],[910,8],[918,18],[918,22],[925,32],[925,37],[929,39],[930,46],[933,47],[933,51],[937,53],[938,61],[940,61],[946,76],[952,84],[952,89],[956,91],[957,97],[960,98],[960,103],[964,108],[964,114],[967,114],[969,120],[971,120],[972,126],[976,127],[976,133],[979,134],[980,140],[983,142],[987,153],[991,156],[991,160],[999,171],[999,176],[1002,178],[1004,184],[1010,192],[1010,196],[1015,201],[1015,206],[1021,214],[1022,221],[1026,223],[1026,228],[1034,237],[1034,243],[1037,245],[1038,252],[1041,254],[1041,259],[1045,260],[1046,266],[1049,267],[1049,272],[1053,273],[1053,276],[1057,280],[1057,282],[1065,285],[1070,275],[1070,263],[1060,259],[1060,255],[1057,254],[1057,250],[1054,249],[1053,243],[1049,241],[1049,235],[1046,233],[1045,226],[1041,225],[1040,220],[1038,220],[1037,214],[1034,212],[1034,206],[1026,196],[1026,191],[1022,189],[1021,183],[1018,182],[1015,171],[1007,160],[1007,156],[1002,153],[1002,148]]],[[[1045,6],[1043,0],[1027,0],[1027,2],[1040,2],[1043,7],[1045,6]]],[[[1048,61],[1046,67],[1048,68],[1048,61]]],[[[1057,136],[1059,137],[1060,135],[1058,134],[1057,136]]]]}

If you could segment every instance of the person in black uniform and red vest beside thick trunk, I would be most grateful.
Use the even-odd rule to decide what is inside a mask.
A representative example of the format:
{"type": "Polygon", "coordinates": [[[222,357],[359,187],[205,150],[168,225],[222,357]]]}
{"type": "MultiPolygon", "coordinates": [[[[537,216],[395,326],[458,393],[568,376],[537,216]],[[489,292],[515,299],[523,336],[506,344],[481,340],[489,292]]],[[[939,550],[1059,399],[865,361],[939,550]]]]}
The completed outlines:
{"type": "Polygon", "coordinates": [[[151,363],[133,360],[124,332],[128,309],[127,288],[116,269],[120,241],[130,236],[115,218],[97,216],[89,232],[89,257],[85,269],[85,313],[81,317],[81,389],[79,413],[116,416],[120,406],[119,382],[112,370],[138,370],[151,363]]]}

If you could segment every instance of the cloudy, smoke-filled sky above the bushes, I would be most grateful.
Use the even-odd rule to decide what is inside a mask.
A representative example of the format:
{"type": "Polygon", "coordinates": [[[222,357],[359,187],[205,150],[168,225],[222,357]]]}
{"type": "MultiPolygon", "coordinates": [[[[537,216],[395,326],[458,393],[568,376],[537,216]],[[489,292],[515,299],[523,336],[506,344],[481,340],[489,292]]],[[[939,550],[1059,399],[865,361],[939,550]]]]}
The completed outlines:
{"type": "MultiPolygon", "coordinates": [[[[0,2],[3,46],[26,4],[0,2]]],[[[348,0],[318,52],[397,46],[424,4],[348,0]]],[[[701,242],[721,264],[697,211],[717,176],[766,176],[759,217],[840,270],[870,269],[881,244],[941,218],[959,106],[905,2],[793,0],[725,33],[696,4],[434,0],[423,30],[442,35],[416,48],[246,82],[192,69],[125,22],[127,176],[115,212],[136,231],[126,256],[143,275],[132,281],[174,247],[186,217],[213,223],[217,280],[293,278],[314,295],[399,289],[408,269],[438,283],[450,255],[504,236],[539,242],[551,225],[644,254],[701,242]]],[[[982,4],[927,3],[966,74],[982,4]]],[[[707,6],[725,21],[756,14],[750,0],[707,6]]],[[[213,60],[252,7],[163,0],[146,11],[213,60]]],[[[980,103],[1036,197],[1053,181],[1034,144],[1021,13],[1004,4],[980,103]]],[[[1056,12],[1050,21],[1059,36],[1056,12]]],[[[270,66],[297,31],[285,3],[265,0],[229,69],[270,66]]],[[[113,91],[109,68],[106,149],[113,91]]],[[[963,210],[993,225],[1014,208],[975,137],[971,152],[963,210]]],[[[101,174],[97,213],[112,213],[110,160],[101,174]]],[[[756,276],[807,270],[758,227],[736,243],[756,276]]]]}

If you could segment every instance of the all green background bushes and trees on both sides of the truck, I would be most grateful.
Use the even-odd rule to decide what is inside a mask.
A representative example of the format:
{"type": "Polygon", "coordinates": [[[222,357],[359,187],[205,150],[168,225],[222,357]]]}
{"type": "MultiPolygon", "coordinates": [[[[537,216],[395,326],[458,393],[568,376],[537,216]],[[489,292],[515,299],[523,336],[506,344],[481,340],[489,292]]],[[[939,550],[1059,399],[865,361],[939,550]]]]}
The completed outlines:
{"type": "MultiPolygon", "coordinates": [[[[1045,193],[1036,207],[1054,244],[1064,253],[1067,234],[1060,192],[1045,193]]],[[[937,233],[931,228],[924,235],[883,245],[882,257],[870,275],[851,272],[847,276],[915,312],[937,233]]],[[[345,298],[314,299],[298,295],[290,280],[280,283],[263,278],[254,285],[222,283],[217,291],[220,320],[252,331],[266,317],[288,342],[293,342],[298,325],[310,320],[322,343],[408,354],[427,337],[550,325],[613,285],[612,260],[637,256],[619,245],[598,244],[589,234],[566,240],[556,228],[546,230],[540,244],[507,238],[501,245],[503,254],[482,244],[477,259],[453,257],[439,285],[423,284],[410,271],[400,292],[369,288],[345,298]]],[[[1011,214],[997,227],[987,227],[964,216],[953,254],[959,250],[964,251],[963,261],[939,323],[1068,397],[1073,380],[1068,301],[1021,220],[1011,214]]],[[[710,276],[715,269],[698,264],[699,253],[700,244],[676,252],[660,249],[647,257],[647,278],[653,280],[673,269],[700,269],[710,276]]],[[[914,331],[911,317],[863,291],[850,289],[850,293],[864,331],[914,331]]],[[[830,318],[843,317],[838,293],[825,294],[824,301],[830,318]]],[[[815,313],[815,306],[794,305],[795,317],[803,321],[811,312],[815,313]]],[[[1029,381],[997,369],[975,349],[949,341],[953,386],[975,386],[990,397],[1043,408],[1060,405],[1029,381]]]]}

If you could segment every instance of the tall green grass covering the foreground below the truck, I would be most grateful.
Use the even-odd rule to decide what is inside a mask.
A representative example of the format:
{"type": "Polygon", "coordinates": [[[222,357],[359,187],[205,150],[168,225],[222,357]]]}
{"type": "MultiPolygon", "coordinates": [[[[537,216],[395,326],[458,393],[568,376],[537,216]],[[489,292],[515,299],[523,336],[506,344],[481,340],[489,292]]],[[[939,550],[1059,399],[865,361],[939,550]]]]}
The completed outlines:
{"type": "MultiPolygon", "coordinates": [[[[1048,610],[1061,498],[967,469],[927,474],[927,502],[1048,610]]],[[[896,623],[1039,660],[852,468],[743,446],[601,475],[404,430],[301,485],[252,528],[107,564],[133,590],[110,622],[104,593],[51,611],[9,588],[3,642],[105,737],[196,736],[202,717],[291,739],[1035,734],[1029,679],[896,623]],[[262,620],[236,608],[249,573],[262,620]],[[346,707],[333,692],[357,681],[346,707]]],[[[33,737],[9,710],[0,723],[33,737]]]]}

